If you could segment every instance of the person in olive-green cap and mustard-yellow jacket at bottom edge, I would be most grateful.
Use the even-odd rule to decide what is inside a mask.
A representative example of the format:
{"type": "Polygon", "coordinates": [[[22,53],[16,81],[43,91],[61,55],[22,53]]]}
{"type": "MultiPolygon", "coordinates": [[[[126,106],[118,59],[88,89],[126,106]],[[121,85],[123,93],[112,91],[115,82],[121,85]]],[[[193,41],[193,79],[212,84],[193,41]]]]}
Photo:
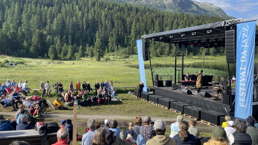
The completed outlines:
{"type": "Polygon", "coordinates": [[[221,126],[212,127],[211,139],[203,145],[228,145],[229,140],[227,134],[221,126]]]}

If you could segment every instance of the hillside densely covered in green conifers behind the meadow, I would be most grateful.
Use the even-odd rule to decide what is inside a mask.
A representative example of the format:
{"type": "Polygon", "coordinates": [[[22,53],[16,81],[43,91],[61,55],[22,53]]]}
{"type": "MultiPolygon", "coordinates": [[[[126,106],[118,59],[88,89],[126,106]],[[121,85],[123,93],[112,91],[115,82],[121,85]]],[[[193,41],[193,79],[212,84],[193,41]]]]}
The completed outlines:
{"type": "MultiPolygon", "coordinates": [[[[137,53],[144,34],[221,20],[103,0],[0,0],[0,53],[99,60],[107,52],[137,53]]],[[[151,55],[169,55],[171,48],[152,43],[151,55]]]]}

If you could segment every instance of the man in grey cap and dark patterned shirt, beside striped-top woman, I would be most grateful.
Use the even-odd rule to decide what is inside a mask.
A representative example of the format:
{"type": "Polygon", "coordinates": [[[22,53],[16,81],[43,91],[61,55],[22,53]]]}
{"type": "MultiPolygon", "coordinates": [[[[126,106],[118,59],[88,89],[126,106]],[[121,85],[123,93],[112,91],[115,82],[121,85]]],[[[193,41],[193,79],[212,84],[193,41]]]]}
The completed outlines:
{"type": "Polygon", "coordinates": [[[141,134],[143,135],[144,139],[148,141],[149,139],[153,138],[156,136],[156,133],[154,131],[154,128],[151,125],[151,117],[150,116],[145,116],[143,118],[143,122],[145,123],[144,126],[141,126],[141,134]]]}

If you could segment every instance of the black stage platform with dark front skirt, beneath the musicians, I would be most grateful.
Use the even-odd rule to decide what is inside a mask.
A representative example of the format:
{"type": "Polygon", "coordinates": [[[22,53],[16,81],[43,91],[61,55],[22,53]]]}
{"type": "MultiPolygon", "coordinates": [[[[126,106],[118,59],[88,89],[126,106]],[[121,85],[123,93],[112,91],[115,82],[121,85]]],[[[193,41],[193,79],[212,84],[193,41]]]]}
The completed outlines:
{"type": "MultiPolygon", "coordinates": [[[[211,98],[204,98],[200,96],[200,93],[187,95],[183,94],[182,90],[172,90],[172,87],[154,87],[155,95],[163,96],[169,99],[176,100],[178,102],[183,102],[191,106],[198,106],[202,109],[213,110],[223,114],[229,114],[230,105],[225,105],[222,103],[222,99],[213,100],[211,98]]],[[[196,90],[191,90],[195,93],[196,90]]],[[[212,88],[203,88],[203,92],[212,92],[212,88]]],[[[233,90],[232,90],[233,92],[233,90]]]]}

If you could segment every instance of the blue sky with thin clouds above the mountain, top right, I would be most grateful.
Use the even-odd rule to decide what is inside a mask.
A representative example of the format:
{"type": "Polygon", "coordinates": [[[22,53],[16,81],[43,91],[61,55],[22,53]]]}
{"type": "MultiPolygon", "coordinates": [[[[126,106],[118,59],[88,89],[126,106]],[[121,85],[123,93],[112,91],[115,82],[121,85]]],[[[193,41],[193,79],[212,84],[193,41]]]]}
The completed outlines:
{"type": "MultiPolygon", "coordinates": [[[[209,2],[218,6],[229,16],[244,18],[244,20],[258,20],[258,0],[193,0],[209,2]]],[[[258,21],[256,21],[258,25],[258,21]]]]}

